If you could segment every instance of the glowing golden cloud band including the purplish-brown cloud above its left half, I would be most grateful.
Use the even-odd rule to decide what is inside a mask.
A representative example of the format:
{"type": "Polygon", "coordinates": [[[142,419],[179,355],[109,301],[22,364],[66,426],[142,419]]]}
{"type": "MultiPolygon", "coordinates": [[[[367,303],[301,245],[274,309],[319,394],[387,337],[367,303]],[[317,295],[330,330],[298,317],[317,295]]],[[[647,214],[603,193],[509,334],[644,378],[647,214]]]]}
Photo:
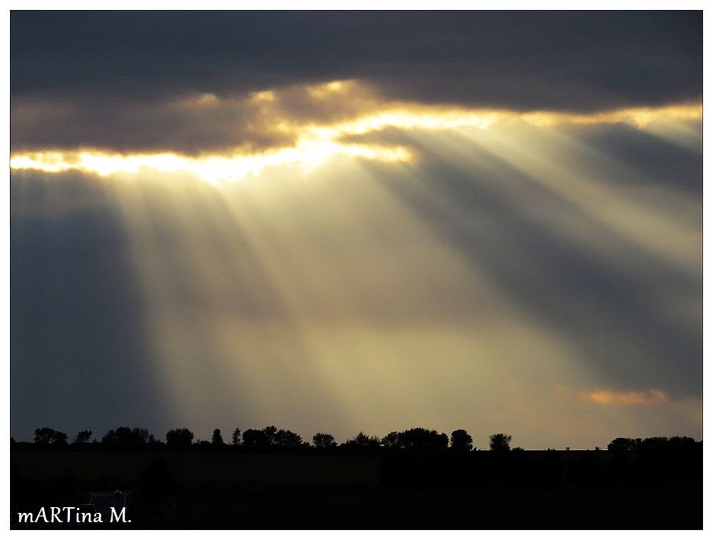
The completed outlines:
{"type": "Polygon", "coordinates": [[[93,115],[91,121],[83,121],[86,111],[81,106],[59,110],[37,105],[21,102],[11,111],[11,168],[52,173],[76,169],[99,175],[148,168],[191,173],[212,183],[258,175],[265,167],[286,163],[312,170],[340,153],[376,161],[413,161],[415,153],[408,144],[359,140],[389,129],[547,129],[606,123],[643,129],[660,121],[702,118],[701,104],[590,114],[424,105],[387,100],[359,81],[290,86],[237,97],[200,93],[150,110],[110,112],[111,129],[93,115]],[[53,137],[63,140],[52,146],[53,137]],[[80,144],[72,146],[73,141],[80,144]]]}

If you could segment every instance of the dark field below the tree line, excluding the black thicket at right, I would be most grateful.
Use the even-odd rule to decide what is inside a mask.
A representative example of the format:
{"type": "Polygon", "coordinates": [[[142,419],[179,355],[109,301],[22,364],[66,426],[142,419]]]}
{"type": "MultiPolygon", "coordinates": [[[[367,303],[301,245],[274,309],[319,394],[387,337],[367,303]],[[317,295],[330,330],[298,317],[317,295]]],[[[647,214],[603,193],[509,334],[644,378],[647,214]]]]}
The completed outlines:
{"type": "MultiPolygon", "coordinates": [[[[573,456],[568,454],[567,457],[573,456]]],[[[133,501],[140,528],[660,529],[702,527],[702,484],[414,486],[381,483],[381,457],[243,452],[13,450],[13,511],[76,491],[135,489],[152,462],[175,489],[133,501]]],[[[158,482],[160,484],[160,482],[158,482]]],[[[140,493],[140,489],[135,491],[140,493]]],[[[117,526],[116,524],[108,526],[117,526]]]]}

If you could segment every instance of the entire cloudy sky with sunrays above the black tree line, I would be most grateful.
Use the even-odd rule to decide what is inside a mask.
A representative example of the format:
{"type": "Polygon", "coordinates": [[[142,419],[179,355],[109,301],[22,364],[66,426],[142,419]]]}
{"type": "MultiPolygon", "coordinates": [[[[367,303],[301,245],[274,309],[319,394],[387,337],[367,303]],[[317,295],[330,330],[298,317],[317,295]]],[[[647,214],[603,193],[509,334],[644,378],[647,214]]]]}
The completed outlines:
{"type": "Polygon", "coordinates": [[[702,438],[702,13],[11,13],[11,434],[702,438]]]}

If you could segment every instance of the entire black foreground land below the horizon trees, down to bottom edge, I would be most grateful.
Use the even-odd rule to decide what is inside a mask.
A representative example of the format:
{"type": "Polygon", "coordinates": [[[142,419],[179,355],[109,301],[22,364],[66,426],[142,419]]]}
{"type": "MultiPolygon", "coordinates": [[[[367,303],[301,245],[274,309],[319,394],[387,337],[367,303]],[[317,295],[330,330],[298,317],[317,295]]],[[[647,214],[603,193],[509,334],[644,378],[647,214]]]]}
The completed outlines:
{"type": "Polygon", "coordinates": [[[20,528],[701,529],[702,455],[11,450],[18,511],[131,491],[130,523],[20,528]]]}

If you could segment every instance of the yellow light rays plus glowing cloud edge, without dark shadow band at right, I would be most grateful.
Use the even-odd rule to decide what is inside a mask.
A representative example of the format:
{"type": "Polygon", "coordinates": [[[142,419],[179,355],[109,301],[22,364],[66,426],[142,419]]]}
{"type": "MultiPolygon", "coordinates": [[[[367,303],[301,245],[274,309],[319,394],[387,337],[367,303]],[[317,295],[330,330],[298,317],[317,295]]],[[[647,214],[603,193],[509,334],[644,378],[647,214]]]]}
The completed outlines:
{"type": "MultiPolygon", "coordinates": [[[[309,151],[247,163],[89,152],[17,155],[11,166],[108,180],[143,286],[157,379],[177,421],[205,427],[201,437],[214,424],[345,438],[430,423],[566,442],[580,413],[546,432],[561,403],[538,389],[585,388],[600,374],[589,351],[503,285],[503,268],[546,268],[521,233],[536,226],[634,276],[641,269],[626,253],[635,249],[646,255],[637,264],[663,262],[695,281],[699,226],[680,216],[699,202],[612,185],[647,178],[567,129],[593,118],[437,113],[401,108],[312,129],[319,144],[309,151]],[[412,144],[376,141],[386,128],[412,144]],[[342,143],[348,136],[376,142],[342,143]],[[461,192],[438,188],[451,173],[461,192]],[[481,203],[461,205],[459,193],[481,203]]],[[[651,125],[631,112],[597,121],[651,125]]],[[[652,310],[697,321],[679,290],[649,291],[652,310]]],[[[610,315],[597,309],[572,307],[610,315]]],[[[622,355],[640,354],[625,337],[617,343],[622,355]]],[[[594,442],[609,435],[590,429],[594,442]]]]}

